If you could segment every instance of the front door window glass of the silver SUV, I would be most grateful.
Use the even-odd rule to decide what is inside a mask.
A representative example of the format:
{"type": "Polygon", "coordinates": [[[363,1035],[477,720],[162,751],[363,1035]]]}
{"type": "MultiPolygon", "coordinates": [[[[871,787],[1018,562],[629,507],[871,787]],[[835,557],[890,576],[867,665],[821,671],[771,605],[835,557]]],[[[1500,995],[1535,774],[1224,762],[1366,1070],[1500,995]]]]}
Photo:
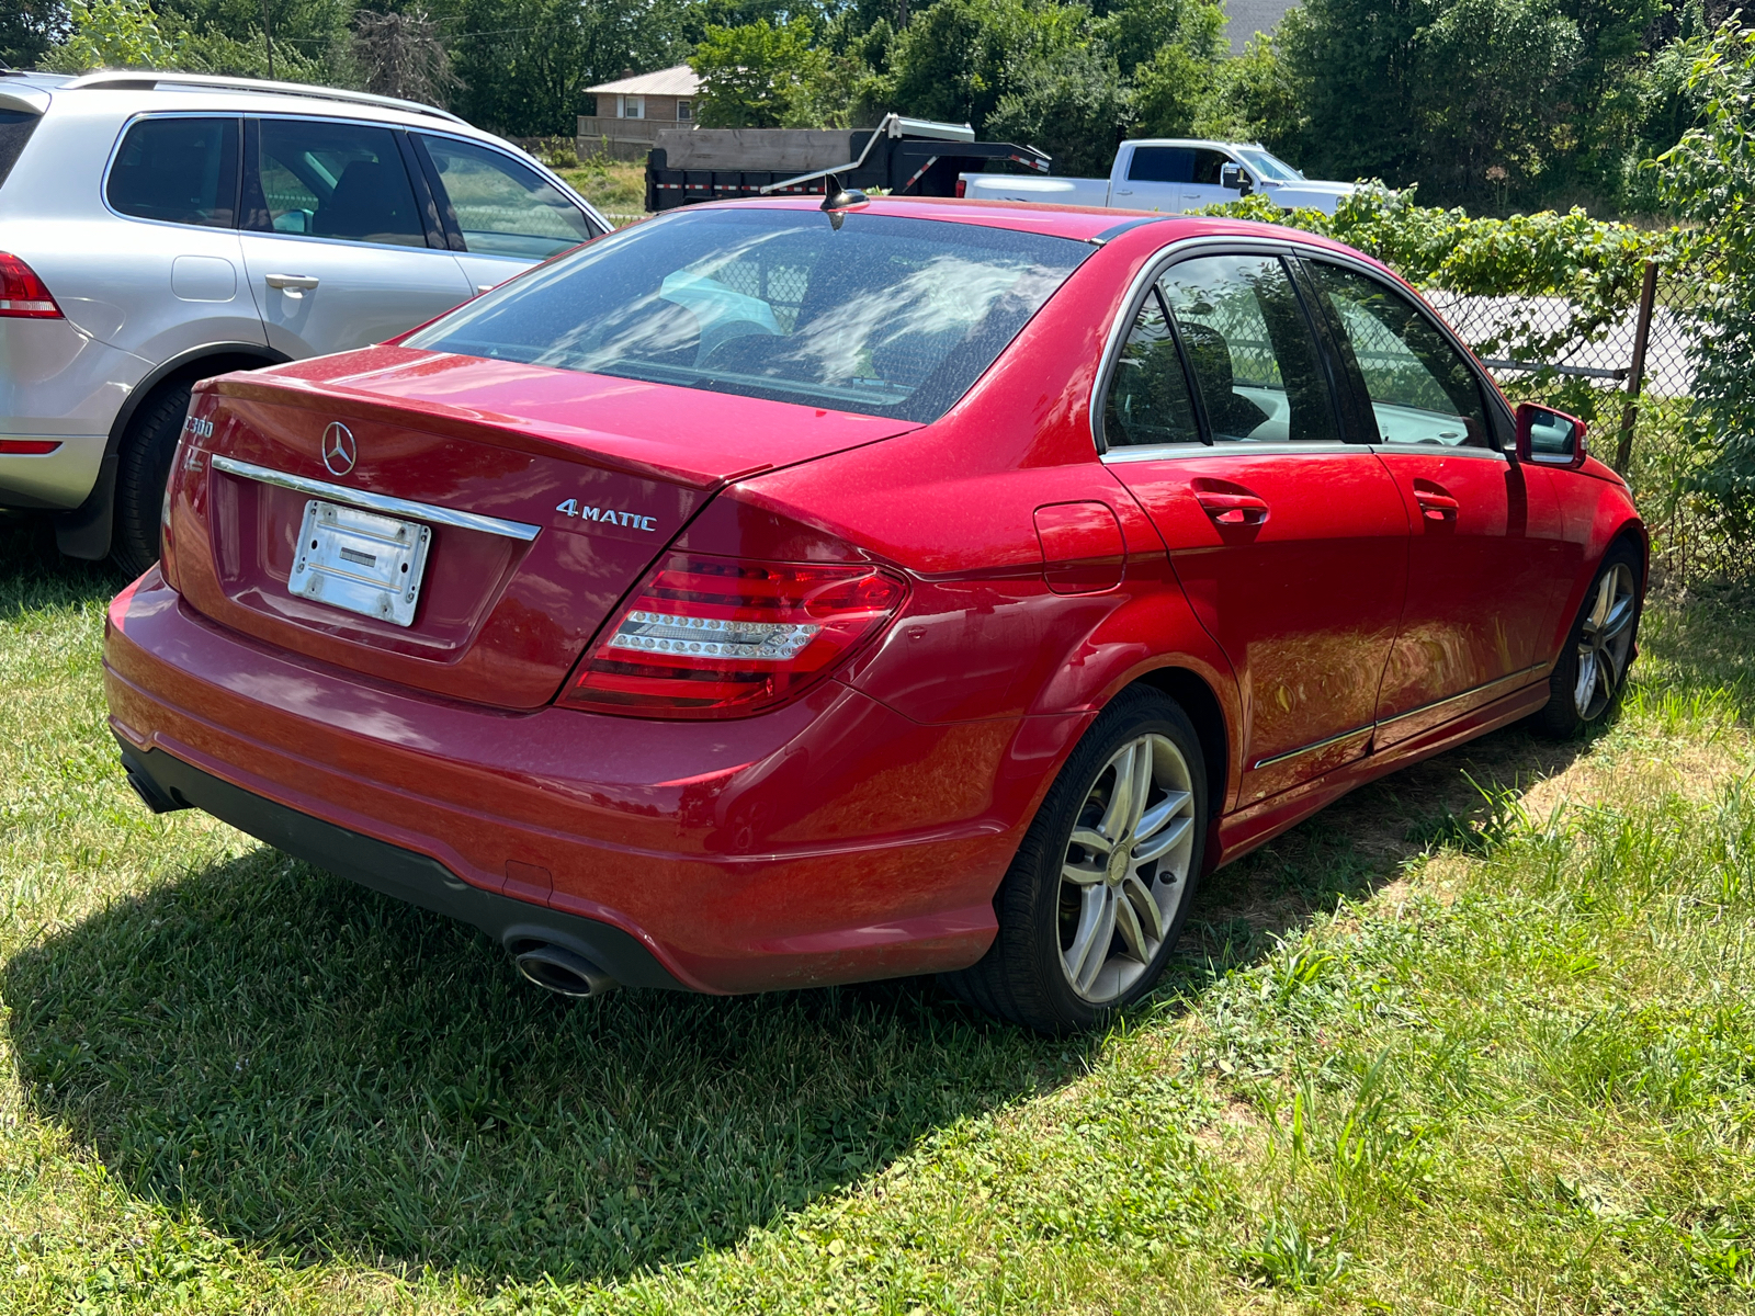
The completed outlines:
{"type": "Polygon", "coordinates": [[[572,202],[516,160],[449,137],[423,137],[421,144],[467,251],[546,260],[595,237],[572,202]]]}

